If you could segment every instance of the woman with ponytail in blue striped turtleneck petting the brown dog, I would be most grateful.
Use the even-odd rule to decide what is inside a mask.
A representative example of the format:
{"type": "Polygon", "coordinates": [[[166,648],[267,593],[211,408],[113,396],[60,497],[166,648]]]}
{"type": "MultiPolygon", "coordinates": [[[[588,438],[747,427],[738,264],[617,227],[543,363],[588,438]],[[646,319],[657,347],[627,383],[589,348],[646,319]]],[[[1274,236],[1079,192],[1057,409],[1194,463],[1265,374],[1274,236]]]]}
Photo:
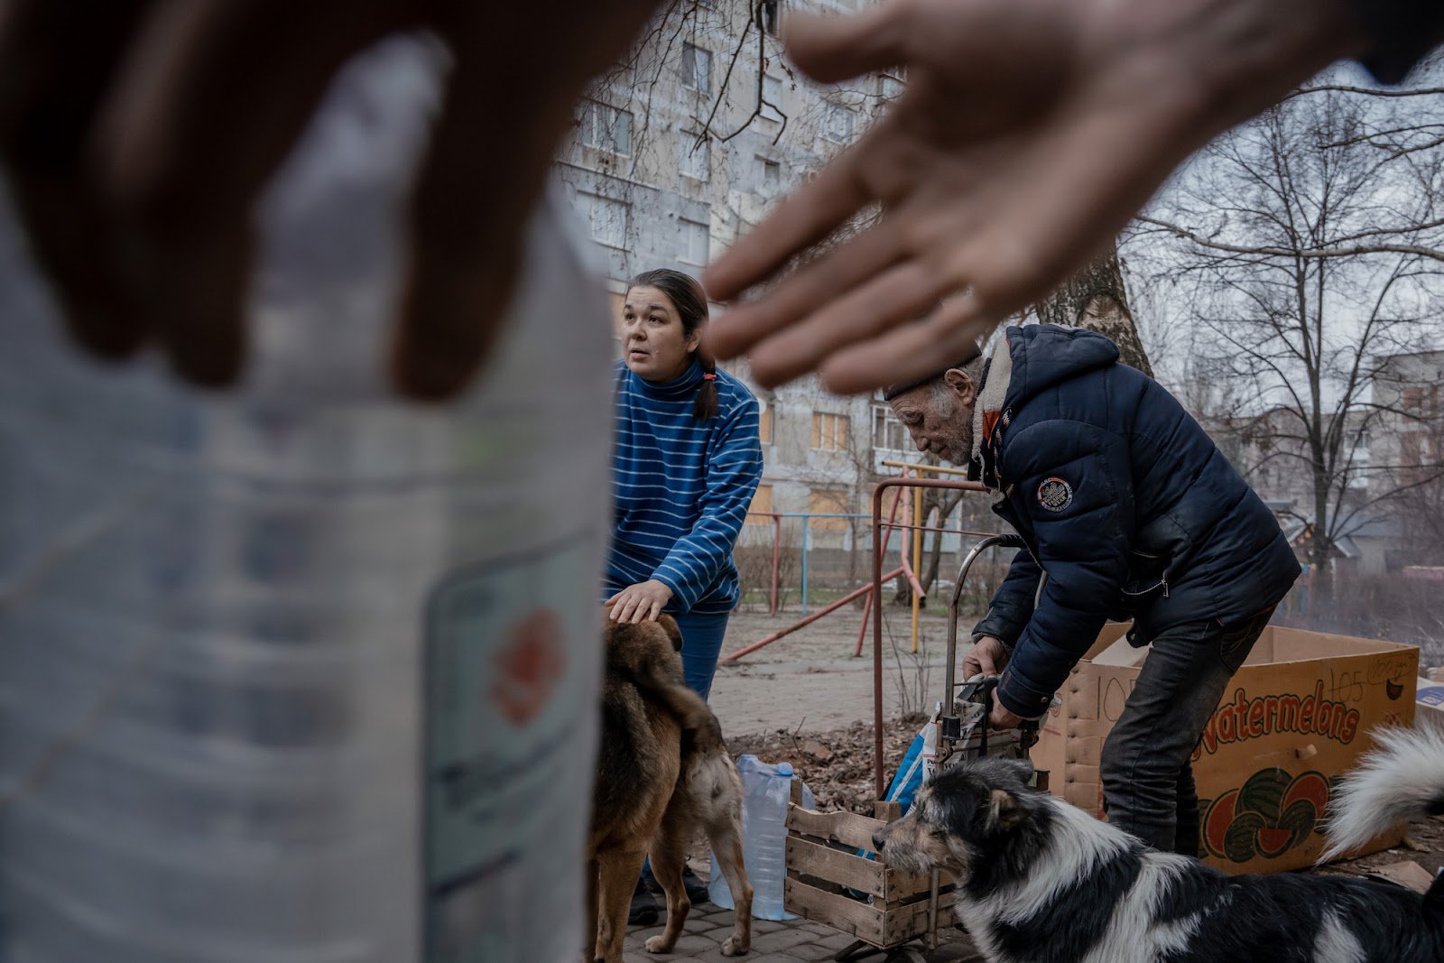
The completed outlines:
{"type": "Polygon", "coordinates": [[[605,585],[617,621],[677,619],[703,699],[739,595],[732,547],[762,476],[757,398],[702,349],[706,321],[706,293],[682,271],[645,271],[627,290],[605,585]]]}

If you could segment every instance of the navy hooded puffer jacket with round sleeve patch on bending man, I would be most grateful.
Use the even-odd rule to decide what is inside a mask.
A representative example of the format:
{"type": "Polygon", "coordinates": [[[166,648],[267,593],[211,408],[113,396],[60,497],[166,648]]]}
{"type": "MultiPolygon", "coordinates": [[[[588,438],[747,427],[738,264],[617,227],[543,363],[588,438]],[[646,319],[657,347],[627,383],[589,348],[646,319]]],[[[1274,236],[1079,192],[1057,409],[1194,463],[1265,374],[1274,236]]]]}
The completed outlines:
{"type": "Polygon", "coordinates": [[[993,511],[1028,549],[973,629],[1012,647],[1005,707],[1041,715],[1109,618],[1132,618],[1142,645],[1284,598],[1300,566],[1274,514],[1112,341],[1031,325],[1008,329],[1006,348],[983,377],[975,443],[993,511]]]}

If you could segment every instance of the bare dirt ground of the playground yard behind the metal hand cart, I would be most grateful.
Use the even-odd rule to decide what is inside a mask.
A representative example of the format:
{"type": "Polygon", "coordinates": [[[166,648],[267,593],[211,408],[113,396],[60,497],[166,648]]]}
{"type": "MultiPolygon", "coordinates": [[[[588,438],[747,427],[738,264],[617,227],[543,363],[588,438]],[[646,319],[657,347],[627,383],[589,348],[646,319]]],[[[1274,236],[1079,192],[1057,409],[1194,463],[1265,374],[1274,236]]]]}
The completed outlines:
{"type": "MultiPolygon", "coordinates": [[[[884,770],[891,778],[921,725],[920,713],[941,696],[947,622],[924,615],[914,655],[911,614],[885,609],[884,616],[884,770]]],[[[723,657],[799,618],[797,611],[734,614],[723,657]]],[[[710,703],[732,752],[791,762],[823,810],[868,813],[875,798],[872,634],[869,624],[864,657],[853,657],[861,619],[861,609],[833,612],[751,655],[722,663],[712,684],[710,703]]],[[[966,640],[972,622],[962,622],[966,640]]],[[[705,869],[705,847],[695,856],[705,869]]],[[[1437,873],[1444,866],[1444,819],[1412,823],[1399,847],[1315,872],[1369,875],[1401,860],[1437,873]]]]}

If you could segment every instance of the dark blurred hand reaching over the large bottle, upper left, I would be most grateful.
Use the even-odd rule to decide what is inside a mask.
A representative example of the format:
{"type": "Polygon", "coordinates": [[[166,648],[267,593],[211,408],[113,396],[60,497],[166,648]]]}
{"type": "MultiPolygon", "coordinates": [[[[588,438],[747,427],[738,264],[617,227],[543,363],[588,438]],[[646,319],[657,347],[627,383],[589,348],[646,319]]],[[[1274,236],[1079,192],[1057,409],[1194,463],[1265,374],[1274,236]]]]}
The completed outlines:
{"type": "Polygon", "coordinates": [[[585,82],[654,6],[9,0],[0,162],[84,348],[118,358],[155,344],[182,377],[227,385],[244,365],[266,180],[352,55],[433,30],[453,65],[414,188],[391,367],[407,394],[443,398],[497,334],[521,228],[585,82]]]}

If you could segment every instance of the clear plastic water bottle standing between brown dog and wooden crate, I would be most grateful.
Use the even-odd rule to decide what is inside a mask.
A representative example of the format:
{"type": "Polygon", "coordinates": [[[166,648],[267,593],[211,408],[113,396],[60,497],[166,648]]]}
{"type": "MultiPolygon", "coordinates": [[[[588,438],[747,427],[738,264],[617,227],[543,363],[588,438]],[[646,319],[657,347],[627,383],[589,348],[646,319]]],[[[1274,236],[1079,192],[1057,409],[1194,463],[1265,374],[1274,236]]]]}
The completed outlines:
{"type": "MultiPolygon", "coordinates": [[[[770,765],[755,755],[744,755],[736,762],[742,775],[742,862],[752,884],[752,915],[758,920],[791,920],[783,910],[783,888],[787,879],[787,806],[791,803],[793,767],[790,762],[770,765]]],[[[813,793],[803,785],[803,806],[816,806],[813,793]]],[[[723,910],[734,908],[732,892],[712,855],[712,876],[708,895],[723,910]]]]}

